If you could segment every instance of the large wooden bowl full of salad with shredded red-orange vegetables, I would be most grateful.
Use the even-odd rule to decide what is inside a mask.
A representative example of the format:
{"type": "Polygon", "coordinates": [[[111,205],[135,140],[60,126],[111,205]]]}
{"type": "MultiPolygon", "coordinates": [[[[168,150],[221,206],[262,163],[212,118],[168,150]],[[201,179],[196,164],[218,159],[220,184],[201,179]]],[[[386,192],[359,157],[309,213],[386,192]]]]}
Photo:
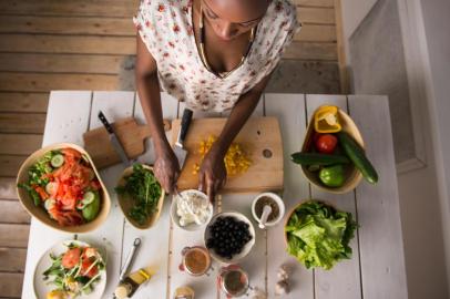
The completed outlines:
{"type": "Polygon", "coordinates": [[[110,198],[89,154],[57,144],[32,154],[18,175],[22,205],[42,223],[70,233],[96,228],[108,216],[110,198]]]}

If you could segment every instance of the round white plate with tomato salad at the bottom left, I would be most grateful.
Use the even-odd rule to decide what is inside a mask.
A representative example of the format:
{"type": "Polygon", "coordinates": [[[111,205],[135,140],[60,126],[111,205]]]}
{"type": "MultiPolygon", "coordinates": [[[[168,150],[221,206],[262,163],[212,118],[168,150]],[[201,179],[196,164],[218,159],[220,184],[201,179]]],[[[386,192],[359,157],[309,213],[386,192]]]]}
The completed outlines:
{"type": "Polygon", "coordinates": [[[37,298],[101,298],[106,264],[98,248],[80,240],[51,247],[39,260],[33,278],[37,298]]]}

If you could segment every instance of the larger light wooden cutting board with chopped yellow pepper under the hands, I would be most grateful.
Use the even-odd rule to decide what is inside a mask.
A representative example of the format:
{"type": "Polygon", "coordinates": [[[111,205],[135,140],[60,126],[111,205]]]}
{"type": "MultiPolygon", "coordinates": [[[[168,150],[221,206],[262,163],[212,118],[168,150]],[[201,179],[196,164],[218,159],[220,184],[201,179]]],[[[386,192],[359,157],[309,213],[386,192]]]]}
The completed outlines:
{"type": "MultiPolygon", "coordinates": [[[[218,136],[226,118],[193,120],[184,146],[188,154],[178,179],[180,189],[198,188],[198,174],[193,174],[194,164],[200,163],[198,145],[209,135],[218,136]]],[[[181,120],[172,122],[172,143],[180,132],[181,120]]],[[[276,117],[249,118],[236,136],[243,151],[252,159],[246,173],[227,178],[224,193],[258,193],[283,189],[283,143],[276,117]]]]}

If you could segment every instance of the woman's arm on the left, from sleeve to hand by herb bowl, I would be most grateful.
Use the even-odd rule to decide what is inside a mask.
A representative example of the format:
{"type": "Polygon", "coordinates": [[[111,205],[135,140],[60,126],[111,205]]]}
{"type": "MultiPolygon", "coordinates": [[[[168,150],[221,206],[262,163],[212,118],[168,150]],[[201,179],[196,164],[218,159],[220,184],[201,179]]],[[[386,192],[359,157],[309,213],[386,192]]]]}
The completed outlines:
{"type": "Polygon", "coordinates": [[[172,193],[180,175],[180,166],[164,132],[156,61],[140,34],[137,34],[136,50],[136,86],[155,147],[154,172],[163,188],[172,193]]]}

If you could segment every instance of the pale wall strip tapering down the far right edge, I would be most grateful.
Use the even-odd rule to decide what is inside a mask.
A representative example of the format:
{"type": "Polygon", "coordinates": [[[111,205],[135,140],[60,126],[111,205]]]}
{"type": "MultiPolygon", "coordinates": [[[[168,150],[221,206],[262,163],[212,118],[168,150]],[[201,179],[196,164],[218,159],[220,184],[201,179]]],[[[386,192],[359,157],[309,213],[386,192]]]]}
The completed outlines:
{"type": "Polygon", "coordinates": [[[420,0],[421,50],[427,64],[427,97],[439,186],[450,293],[450,1],[420,0]]]}

